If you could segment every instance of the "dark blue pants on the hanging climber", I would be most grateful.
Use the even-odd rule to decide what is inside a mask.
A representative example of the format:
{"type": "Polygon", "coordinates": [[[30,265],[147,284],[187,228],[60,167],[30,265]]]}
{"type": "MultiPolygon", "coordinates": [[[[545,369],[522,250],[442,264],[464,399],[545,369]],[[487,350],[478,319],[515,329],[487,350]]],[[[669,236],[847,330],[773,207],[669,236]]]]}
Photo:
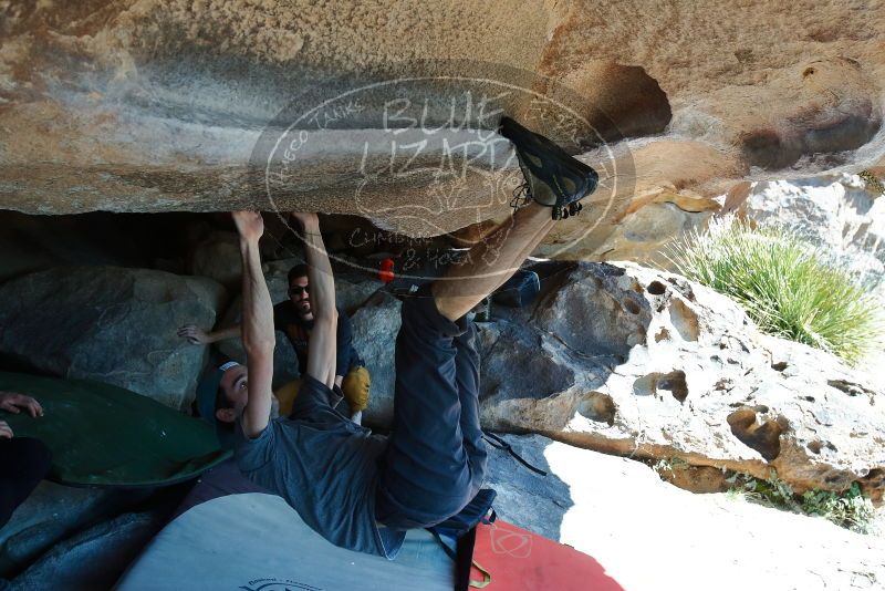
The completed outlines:
{"type": "Polygon", "coordinates": [[[442,317],[428,292],[407,298],[402,315],[394,427],[375,499],[376,519],[394,529],[458,514],[479,490],[487,459],[475,326],[442,317]]]}

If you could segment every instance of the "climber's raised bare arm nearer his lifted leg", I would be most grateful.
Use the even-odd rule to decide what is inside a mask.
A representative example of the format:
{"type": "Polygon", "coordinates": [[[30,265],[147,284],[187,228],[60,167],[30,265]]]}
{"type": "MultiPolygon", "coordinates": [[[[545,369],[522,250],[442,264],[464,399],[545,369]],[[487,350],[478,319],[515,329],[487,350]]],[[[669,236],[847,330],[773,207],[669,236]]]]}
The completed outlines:
{"type": "Polygon", "coordinates": [[[313,329],[308,349],[308,375],[329,387],[335,385],[335,353],[339,312],[335,308],[335,278],[320,235],[316,214],[292,214],[301,225],[304,253],[308,259],[308,280],[311,287],[313,329]]]}

